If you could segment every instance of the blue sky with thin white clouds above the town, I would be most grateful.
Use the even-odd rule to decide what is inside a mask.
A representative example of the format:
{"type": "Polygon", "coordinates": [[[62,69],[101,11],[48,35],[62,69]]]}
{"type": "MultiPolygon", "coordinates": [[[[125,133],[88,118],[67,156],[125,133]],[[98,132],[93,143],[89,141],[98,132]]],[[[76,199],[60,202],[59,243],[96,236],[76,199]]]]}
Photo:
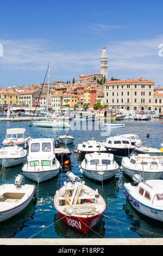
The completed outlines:
{"type": "Polygon", "coordinates": [[[42,83],[100,72],[145,78],[163,86],[163,1],[3,1],[0,5],[0,87],[42,83]]]}

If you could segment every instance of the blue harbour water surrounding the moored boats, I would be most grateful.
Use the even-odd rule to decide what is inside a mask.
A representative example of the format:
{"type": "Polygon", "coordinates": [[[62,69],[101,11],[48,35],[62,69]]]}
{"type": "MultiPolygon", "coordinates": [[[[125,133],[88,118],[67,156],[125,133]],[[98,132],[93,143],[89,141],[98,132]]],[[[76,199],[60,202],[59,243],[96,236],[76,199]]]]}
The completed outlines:
{"type": "MultiPolygon", "coordinates": [[[[124,128],[115,128],[111,130],[110,136],[122,133],[135,133],[140,137],[143,145],[159,148],[163,142],[163,124],[160,119],[149,121],[124,121],[124,128]],[[147,138],[147,133],[150,137],[147,138]]],[[[54,135],[53,129],[41,127],[29,127],[29,122],[0,122],[0,142],[5,137],[6,129],[12,127],[24,127],[27,135],[32,138],[51,137],[54,135]]],[[[59,135],[65,134],[65,131],[57,131],[59,135]]],[[[72,151],[77,149],[77,144],[94,137],[98,141],[103,141],[106,137],[101,137],[101,131],[69,131],[69,134],[75,138],[74,144],[68,145],[72,151]]],[[[2,145],[1,145],[2,147],[2,145]]],[[[121,158],[115,157],[121,164],[121,158]]],[[[12,217],[10,220],[0,223],[0,238],[136,238],[136,237],[163,237],[163,224],[149,220],[149,218],[140,215],[133,209],[123,193],[123,184],[131,181],[129,177],[123,174],[123,170],[116,173],[115,178],[105,181],[103,186],[82,176],[79,171],[80,162],[83,159],[78,154],[72,153],[71,162],[68,166],[62,166],[62,170],[57,178],[36,185],[37,203],[33,202],[21,212],[21,214],[12,217]],[[55,191],[58,190],[66,179],[67,170],[82,178],[87,186],[93,189],[98,188],[106,202],[106,210],[102,221],[98,226],[87,235],[80,233],[68,227],[64,222],[59,221],[57,211],[54,208],[53,198],[55,191]]],[[[22,166],[6,168],[0,175],[0,182],[14,183],[16,175],[21,173],[22,166]]],[[[27,184],[33,184],[33,181],[24,179],[27,184]]]]}

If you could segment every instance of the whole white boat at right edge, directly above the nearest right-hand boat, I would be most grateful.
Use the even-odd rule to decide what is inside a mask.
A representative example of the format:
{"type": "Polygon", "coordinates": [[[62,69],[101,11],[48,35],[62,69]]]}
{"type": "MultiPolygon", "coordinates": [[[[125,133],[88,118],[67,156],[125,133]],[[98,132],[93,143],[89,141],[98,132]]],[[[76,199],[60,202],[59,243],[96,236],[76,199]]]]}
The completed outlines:
{"type": "Polygon", "coordinates": [[[123,157],[122,167],[124,173],[132,177],[134,174],[140,174],[145,179],[156,180],[163,176],[163,157],[150,155],[131,155],[123,157]]]}

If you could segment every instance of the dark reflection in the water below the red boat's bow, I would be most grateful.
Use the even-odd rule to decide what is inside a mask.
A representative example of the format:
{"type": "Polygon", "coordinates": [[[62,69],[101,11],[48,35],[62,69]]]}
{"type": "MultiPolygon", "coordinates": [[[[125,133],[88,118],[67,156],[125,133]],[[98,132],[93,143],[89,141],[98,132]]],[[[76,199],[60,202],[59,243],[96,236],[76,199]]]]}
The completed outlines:
{"type": "Polygon", "coordinates": [[[105,235],[105,221],[101,218],[101,221],[96,225],[95,228],[89,231],[89,234],[84,234],[70,226],[66,225],[60,220],[59,215],[54,215],[54,228],[57,236],[66,238],[102,238],[105,235]]]}

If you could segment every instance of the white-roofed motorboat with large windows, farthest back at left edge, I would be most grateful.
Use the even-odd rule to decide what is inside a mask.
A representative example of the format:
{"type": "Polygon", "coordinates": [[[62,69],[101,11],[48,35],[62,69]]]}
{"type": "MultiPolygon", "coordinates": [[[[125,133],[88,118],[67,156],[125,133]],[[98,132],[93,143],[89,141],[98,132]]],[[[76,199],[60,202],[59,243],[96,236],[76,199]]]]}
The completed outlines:
{"type": "Polygon", "coordinates": [[[24,128],[11,128],[7,129],[6,136],[2,142],[5,146],[18,145],[27,148],[31,137],[26,136],[26,129],[24,128]]]}

